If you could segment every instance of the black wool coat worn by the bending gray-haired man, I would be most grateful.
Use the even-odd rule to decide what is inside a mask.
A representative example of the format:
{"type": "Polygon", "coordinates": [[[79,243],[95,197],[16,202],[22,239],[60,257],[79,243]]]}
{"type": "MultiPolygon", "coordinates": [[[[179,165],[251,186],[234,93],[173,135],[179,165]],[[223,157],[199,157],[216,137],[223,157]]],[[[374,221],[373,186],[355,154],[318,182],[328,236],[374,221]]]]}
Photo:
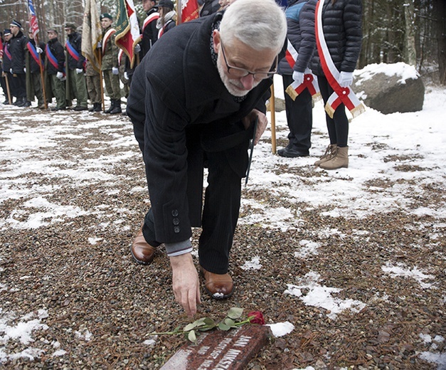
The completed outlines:
{"type": "MultiPolygon", "coordinates": [[[[154,43],[132,79],[127,114],[144,157],[159,243],[184,241],[191,226],[200,226],[203,150],[229,153],[248,143],[252,132],[240,120],[254,108],[265,112],[272,79],[236,102],[213,64],[212,26],[221,17],[172,28],[154,43]]],[[[248,163],[246,148],[231,152],[230,165],[240,177],[248,163]]]]}

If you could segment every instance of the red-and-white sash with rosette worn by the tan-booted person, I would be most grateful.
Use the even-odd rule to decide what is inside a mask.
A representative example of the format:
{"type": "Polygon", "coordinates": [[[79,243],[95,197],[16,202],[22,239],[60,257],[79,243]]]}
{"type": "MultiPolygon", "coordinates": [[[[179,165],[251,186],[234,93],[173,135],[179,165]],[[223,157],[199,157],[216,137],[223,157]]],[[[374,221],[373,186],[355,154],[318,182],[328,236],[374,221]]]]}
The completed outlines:
{"type": "Polygon", "coordinates": [[[324,38],[324,30],[322,28],[322,9],[324,7],[324,0],[319,0],[316,5],[316,45],[319,58],[321,60],[322,70],[326,80],[328,80],[334,93],[331,94],[329,100],[325,105],[326,114],[333,118],[334,111],[341,103],[347,107],[353,117],[359,116],[365,111],[363,104],[359,101],[358,97],[350,88],[342,88],[339,85],[339,76],[341,73],[336,68],[336,65],[331,59],[329,49],[326,46],[324,38]]]}

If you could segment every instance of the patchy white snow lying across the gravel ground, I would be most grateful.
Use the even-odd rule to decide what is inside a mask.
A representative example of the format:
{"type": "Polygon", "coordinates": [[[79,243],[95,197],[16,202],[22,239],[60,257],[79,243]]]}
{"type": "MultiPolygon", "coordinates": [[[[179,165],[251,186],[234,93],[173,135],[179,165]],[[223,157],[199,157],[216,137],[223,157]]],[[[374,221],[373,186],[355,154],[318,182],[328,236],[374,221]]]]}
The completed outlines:
{"type": "MultiPolygon", "coordinates": [[[[276,96],[283,96],[281,80],[275,78],[276,96]]],[[[42,125],[28,129],[22,121],[16,120],[14,112],[16,107],[0,107],[2,115],[0,122],[3,130],[0,133],[0,160],[8,159],[9,164],[4,165],[0,172],[0,205],[11,199],[26,199],[23,208],[15,208],[6,219],[0,219],[0,231],[5,228],[33,229],[51,223],[68,222],[70,218],[88,213],[104,214],[110,209],[97,205],[92,209],[80,209],[78,207],[62,206],[51,202],[48,196],[54,187],[51,183],[45,186],[23,186],[23,174],[38,174],[38,176],[58,177],[70,181],[76,186],[87,186],[100,181],[105,188],[113,189],[115,179],[107,174],[107,167],[123,162],[135,155],[134,138],[128,135],[128,127],[123,121],[117,120],[110,134],[114,138],[107,145],[119,148],[119,152],[103,154],[94,157],[97,150],[101,149],[100,142],[91,137],[91,147],[80,148],[83,153],[92,154],[90,159],[83,160],[83,166],[75,166],[76,158],[49,160],[45,156],[48,148],[57,145],[56,138],[76,139],[87,135],[88,126],[109,126],[110,120],[97,120],[88,113],[83,114],[84,120],[89,120],[83,127],[78,127],[75,118],[70,115],[50,115],[38,112],[26,117],[31,122],[42,122],[42,125]],[[51,122],[48,129],[46,122],[51,122]],[[98,147],[99,145],[99,147],[98,147]],[[61,168],[65,168],[61,170],[61,168]]],[[[434,217],[445,217],[446,204],[439,199],[435,208],[413,208],[412,199],[405,196],[409,191],[413,193],[422,192],[423,186],[429,184],[443,184],[446,180],[446,125],[444,115],[446,112],[446,91],[440,88],[428,88],[425,95],[423,111],[410,113],[394,113],[382,115],[380,112],[368,108],[365,113],[352,120],[349,133],[349,169],[336,171],[323,171],[314,169],[318,176],[307,176],[302,178],[294,174],[294,170],[312,168],[314,161],[323,154],[329,144],[324,122],[324,110],[322,102],[317,102],[314,107],[314,135],[311,157],[299,159],[287,159],[271,154],[271,144],[268,140],[261,141],[254,149],[253,164],[250,169],[250,179],[246,189],[269,189],[272,194],[286,199],[290,203],[302,202],[308,209],[326,206],[331,216],[346,216],[351,218],[362,218],[371,213],[386,213],[393,210],[403,209],[414,215],[430,215],[434,217]],[[376,147],[379,151],[376,151],[376,147]],[[418,171],[397,171],[394,165],[388,164],[386,159],[396,157],[396,161],[403,166],[419,166],[418,171]],[[277,168],[285,169],[277,171],[277,168]],[[290,171],[286,171],[289,169],[290,171]],[[380,189],[379,196],[366,191],[368,181],[382,179],[389,181],[393,186],[380,189]],[[410,182],[399,182],[399,179],[413,179],[410,182]]],[[[126,124],[128,125],[128,123],[126,124]]],[[[276,113],[277,139],[286,139],[287,124],[285,112],[276,113]]],[[[108,128],[110,131],[110,128],[108,128]]],[[[265,132],[264,137],[270,139],[270,129],[265,132]]],[[[106,148],[102,148],[106,149],[106,148]]],[[[393,163],[394,164],[394,163],[393,163]]],[[[146,189],[132,189],[132,191],[145,192],[146,189]]],[[[125,217],[125,210],[122,212],[125,217]]],[[[274,204],[265,204],[253,199],[242,199],[242,215],[240,224],[258,223],[267,228],[279,228],[287,231],[290,228],[299,228],[299,213],[293,213],[283,206],[275,207],[274,204]],[[250,208],[246,214],[245,208],[250,208]]],[[[122,228],[125,228],[123,221],[122,228]]],[[[423,225],[416,227],[423,228],[423,225]]],[[[442,238],[444,224],[431,227],[431,239],[442,238]],[[436,236],[435,236],[436,235],[436,236]]],[[[336,230],[321,231],[324,233],[339,233],[336,230]]],[[[363,231],[356,231],[358,236],[363,231]]],[[[90,238],[89,242],[94,245],[97,238],[90,238]]],[[[297,243],[296,257],[304,258],[308,255],[317,254],[319,245],[312,240],[299,240],[297,243]]],[[[1,260],[1,255],[0,255],[1,260]]],[[[253,256],[240,266],[244,270],[261,270],[262,258],[253,256]]],[[[403,276],[415,279],[424,289],[435,288],[435,276],[427,271],[421,271],[417,266],[385,265],[382,268],[383,275],[391,277],[403,276]]],[[[1,271],[0,271],[1,273],[1,271]]],[[[26,278],[26,277],[23,277],[26,278]]],[[[13,286],[0,284],[1,290],[13,290],[13,286]]],[[[289,284],[285,290],[285,296],[295,295],[302,299],[306,305],[324,307],[328,310],[331,318],[336,319],[336,314],[342,310],[356,312],[364,306],[363,302],[354,300],[339,300],[332,297],[333,292],[339,292],[339,288],[326,287],[319,283],[319,274],[312,271],[302,277],[299,285],[289,284]],[[302,289],[309,290],[302,295],[302,289]]],[[[445,297],[446,302],[446,297],[445,297]]],[[[38,332],[48,329],[42,322],[45,312],[30,312],[26,317],[16,317],[14,312],[3,312],[0,306],[0,362],[12,359],[14,356],[23,356],[33,359],[41,353],[36,344],[38,332]],[[1,350],[1,344],[11,339],[18,339],[29,344],[27,351],[19,354],[7,354],[1,350]]],[[[277,337],[282,337],[291,332],[294,327],[290,322],[271,324],[272,332],[277,337]]],[[[80,339],[90,340],[91,333],[85,329],[84,332],[74,333],[80,339]]],[[[421,334],[420,334],[421,335],[421,334]]],[[[437,346],[444,341],[442,337],[424,338],[426,343],[437,346]]],[[[55,352],[53,356],[63,356],[64,349],[60,344],[53,344],[55,352]]],[[[436,363],[439,369],[446,367],[446,354],[433,351],[423,352],[420,356],[427,361],[436,363]]],[[[311,366],[307,368],[312,369],[311,366]]]]}

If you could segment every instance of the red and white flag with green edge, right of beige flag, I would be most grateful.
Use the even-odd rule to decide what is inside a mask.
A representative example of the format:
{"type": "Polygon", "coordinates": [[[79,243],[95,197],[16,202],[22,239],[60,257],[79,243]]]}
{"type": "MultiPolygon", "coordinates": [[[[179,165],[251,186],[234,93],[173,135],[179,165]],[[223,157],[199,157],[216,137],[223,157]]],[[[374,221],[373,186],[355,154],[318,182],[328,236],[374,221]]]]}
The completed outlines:
{"type": "Polygon", "coordinates": [[[115,26],[115,43],[129,57],[130,68],[134,64],[134,46],[141,40],[137,13],[133,0],[119,0],[115,26]]]}

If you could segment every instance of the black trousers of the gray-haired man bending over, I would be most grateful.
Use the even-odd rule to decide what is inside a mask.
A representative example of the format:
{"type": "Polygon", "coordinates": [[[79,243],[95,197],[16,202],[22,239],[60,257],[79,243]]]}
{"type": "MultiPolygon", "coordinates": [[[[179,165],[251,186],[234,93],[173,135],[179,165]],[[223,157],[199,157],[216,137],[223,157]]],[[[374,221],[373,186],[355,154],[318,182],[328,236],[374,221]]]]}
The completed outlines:
{"type": "MultiPolygon", "coordinates": [[[[203,150],[194,146],[195,150],[197,148],[203,150]]],[[[219,152],[203,151],[203,158],[206,159],[203,166],[208,168],[208,186],[201,217],[198,256],[200,265],[211,273],[228,272],[229,253],[240,211],[241,179],[246,172],[247,149],[248,139],[236,147],[219,152]]],[[[201,203],[201,196],[194,201],[201,203]]],[[[142,232],[147,243],[160,245],[155,237],[152,209],[144,218],[142,232]]]]}

